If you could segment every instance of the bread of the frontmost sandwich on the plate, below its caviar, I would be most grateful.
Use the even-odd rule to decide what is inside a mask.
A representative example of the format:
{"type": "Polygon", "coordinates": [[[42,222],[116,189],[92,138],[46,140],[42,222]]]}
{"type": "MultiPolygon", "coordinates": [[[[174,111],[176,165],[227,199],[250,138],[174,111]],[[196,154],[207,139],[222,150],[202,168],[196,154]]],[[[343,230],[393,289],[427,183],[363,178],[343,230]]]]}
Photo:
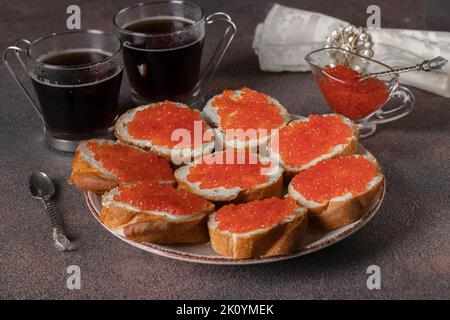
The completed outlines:
{"type": "Polygon", "coordinates": [[[233,259],[293,254],[302,248],[308,228],[307,210],[299,206],[283,221],[245,233],[219,230],[216,215],[217,212],[208,219],[211,246],[217,253],[233,259]]]}

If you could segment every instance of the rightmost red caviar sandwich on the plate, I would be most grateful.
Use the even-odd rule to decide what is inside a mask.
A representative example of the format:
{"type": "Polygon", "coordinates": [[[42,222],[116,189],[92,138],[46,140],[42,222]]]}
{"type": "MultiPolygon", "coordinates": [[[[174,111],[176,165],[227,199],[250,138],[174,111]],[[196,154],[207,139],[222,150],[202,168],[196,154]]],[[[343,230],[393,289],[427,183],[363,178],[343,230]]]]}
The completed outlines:
{"type": "Polygon", "coordinates": [[[360,219],[377,201],[383,174],[373,157],[323,160],[297,174],[289,195],[308,209],[311,224],[333,230],[360,219]]]}

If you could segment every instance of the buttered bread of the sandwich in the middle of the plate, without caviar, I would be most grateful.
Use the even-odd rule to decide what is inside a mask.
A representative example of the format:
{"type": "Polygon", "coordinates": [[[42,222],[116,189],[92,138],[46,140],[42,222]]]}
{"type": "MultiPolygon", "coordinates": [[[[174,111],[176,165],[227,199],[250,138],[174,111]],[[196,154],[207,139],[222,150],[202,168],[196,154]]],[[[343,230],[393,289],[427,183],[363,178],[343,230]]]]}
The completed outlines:
{"type": "MultiPolygon", "coordinates": [[[[224,152],[233,152],[233,150],[228,150],[224,152]]],[[[215,156],[216,154],[212,154],[215,156]]],[[[265,163],[269,161],[268,158],[262,157],[260,155],[256,156],[259,161],[265,163]]],[[[178,182],[179,189],[185,189],[195,194],[198,194],[205,199],[213,202],[248,202],[252,200],[265,199],[272,196],[280,196],[283,189],[283,169],[275,165],[270,172],[267,172],[267,181],[259,185],[255,185],[250,189],[241,189],[240,187],[234,188],[224,188],[217,187],[211,189],[200,188],[201,182],[191,182],[188,180],[189,171],[194,167],[201,159],[194,161],[191,164],[183,166],[175,170],[175,179],[178,182]]],[[[233,165],[233,164],[230,164],[233,165]]]]}

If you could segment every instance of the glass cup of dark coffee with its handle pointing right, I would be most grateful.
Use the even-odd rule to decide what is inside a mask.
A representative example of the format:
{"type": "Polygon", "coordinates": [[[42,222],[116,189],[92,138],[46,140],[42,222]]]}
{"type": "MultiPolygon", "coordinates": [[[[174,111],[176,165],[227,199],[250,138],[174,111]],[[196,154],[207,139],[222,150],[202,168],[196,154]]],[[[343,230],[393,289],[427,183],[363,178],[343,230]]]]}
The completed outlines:
{"type": "Polygon", "coordinates": [[[140,3],[114,17],[123,42],[124,64],[136,104],[165,99],[200,106],[208,83],[236,33],[222,12],[205,17],[187,1],[140,3]],[[203,72],[200,71],[205,25],[227,28],[203,72]]]}

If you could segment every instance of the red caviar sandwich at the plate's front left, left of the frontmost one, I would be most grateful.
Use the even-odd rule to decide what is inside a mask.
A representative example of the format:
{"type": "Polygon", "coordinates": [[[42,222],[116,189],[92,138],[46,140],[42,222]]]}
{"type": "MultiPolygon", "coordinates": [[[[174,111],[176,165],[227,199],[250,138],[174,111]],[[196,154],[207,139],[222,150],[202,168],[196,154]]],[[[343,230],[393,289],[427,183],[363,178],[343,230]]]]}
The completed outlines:
{"type": "Polygon", "coordinates": [[[119,186],[102,197],[101,222],[129,240],[172,244],[208,241],[214,205],[168,184],[119,186]]]}

